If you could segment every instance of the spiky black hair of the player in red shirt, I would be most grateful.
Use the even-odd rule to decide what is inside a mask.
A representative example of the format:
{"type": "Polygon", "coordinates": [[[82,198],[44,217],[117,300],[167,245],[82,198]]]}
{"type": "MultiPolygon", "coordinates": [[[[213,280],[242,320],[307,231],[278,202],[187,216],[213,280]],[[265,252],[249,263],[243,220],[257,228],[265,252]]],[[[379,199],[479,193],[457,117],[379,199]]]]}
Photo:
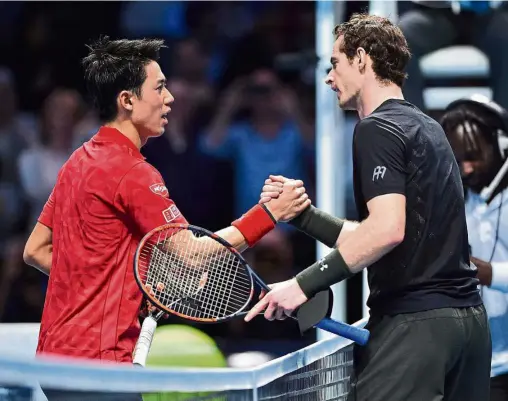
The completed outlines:
{"type": "Polygon", "coordinates": [[[129,90],[141,96],[145,66],[157,61],[165,46],[160,39],[110,40],[104,36],[87,47],[90,52],[83,59],[83,67],[88,94],[100,118],[111,121],[118,113],[118,94],[129,90]]]}

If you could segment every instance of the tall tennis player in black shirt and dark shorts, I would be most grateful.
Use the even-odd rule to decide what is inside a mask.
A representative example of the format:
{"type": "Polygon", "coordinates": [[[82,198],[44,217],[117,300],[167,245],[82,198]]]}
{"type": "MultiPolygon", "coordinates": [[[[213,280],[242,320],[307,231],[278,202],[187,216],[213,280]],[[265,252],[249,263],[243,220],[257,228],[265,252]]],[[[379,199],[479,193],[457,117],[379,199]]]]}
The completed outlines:
{"type": "MultiPolygon", "coordinates": [[[[368,268],[371,337],[355,346],[349,401],[485,401],[491,341],[469,263],[464,191],[441,126],[406,102],[410,57],[385,18],[354,15],[334,31],[326,83],[358,111],[353,140],[360,223],[310,206],[293,224],[333,251],[272,286],[247,315],[282,319],[368,268]]],[[[270,177],[261,202],[286,178],[270,177]]]]}

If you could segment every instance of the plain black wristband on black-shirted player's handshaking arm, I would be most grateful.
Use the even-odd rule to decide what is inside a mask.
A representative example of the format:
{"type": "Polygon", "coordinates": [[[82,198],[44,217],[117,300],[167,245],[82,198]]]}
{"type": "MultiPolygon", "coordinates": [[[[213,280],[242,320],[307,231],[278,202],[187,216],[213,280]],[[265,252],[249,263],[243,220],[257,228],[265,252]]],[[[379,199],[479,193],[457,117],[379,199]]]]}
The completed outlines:
{"type": "Polygon", "coordinates": [[[289,224],[303,231],[315,240],[333,248],[339,238],[344,220],[332,216],[322,210],[309,206],[289,224]]]}

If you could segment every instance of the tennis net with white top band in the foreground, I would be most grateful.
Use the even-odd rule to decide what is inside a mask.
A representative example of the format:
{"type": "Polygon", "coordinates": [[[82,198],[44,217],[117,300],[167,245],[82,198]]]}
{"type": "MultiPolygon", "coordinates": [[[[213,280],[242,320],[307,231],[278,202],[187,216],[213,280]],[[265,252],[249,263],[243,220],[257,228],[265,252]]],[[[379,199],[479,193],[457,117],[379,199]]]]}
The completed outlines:
{"type": "Polygon", "coordinates": [[[346,401],[352,347],[349,340],[331,337],[250,369],[139,368],[2,352],[0,401],[44,401],[41,386],[142,393],[144,401],[346,401]]]}

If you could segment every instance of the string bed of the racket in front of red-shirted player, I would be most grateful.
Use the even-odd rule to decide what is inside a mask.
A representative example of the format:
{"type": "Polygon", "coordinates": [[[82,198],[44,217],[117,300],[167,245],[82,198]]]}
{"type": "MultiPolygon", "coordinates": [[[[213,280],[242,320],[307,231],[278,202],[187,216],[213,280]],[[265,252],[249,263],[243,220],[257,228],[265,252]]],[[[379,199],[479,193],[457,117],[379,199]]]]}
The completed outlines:
{"type": "Polygon", "coordinates": [[[167,309],[198,320],[242,309],[252,296],[242,262],[218,241],[182,231],[189,230],[163,230],[145,243],[138,259],[145,287],[167,309]]]}

